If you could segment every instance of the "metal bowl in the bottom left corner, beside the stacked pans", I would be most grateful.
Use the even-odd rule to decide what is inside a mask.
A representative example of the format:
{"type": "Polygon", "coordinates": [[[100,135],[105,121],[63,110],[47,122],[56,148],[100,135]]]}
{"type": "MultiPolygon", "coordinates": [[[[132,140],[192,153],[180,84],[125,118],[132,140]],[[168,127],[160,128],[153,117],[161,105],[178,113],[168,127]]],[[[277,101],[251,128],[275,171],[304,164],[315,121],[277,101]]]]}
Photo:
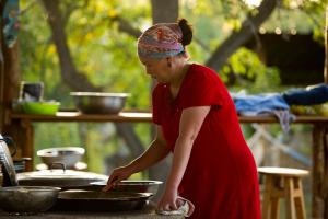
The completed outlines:
{"type": "Polygon", "coordinates": [[[0,208],[8,212],[36,214],[50,209],[60,188],[49,186],[12,186],[0,188],[0,208]]]}

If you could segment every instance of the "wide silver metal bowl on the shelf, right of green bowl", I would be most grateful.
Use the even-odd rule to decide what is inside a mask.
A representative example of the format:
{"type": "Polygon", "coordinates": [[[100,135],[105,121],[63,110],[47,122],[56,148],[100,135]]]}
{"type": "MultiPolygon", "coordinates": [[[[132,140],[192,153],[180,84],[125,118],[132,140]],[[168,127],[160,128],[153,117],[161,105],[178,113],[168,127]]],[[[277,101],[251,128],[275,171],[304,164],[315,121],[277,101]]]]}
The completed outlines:
{"type": "Polygon", "coordinates": [[[79,111],[85,114],[117,114],[128,93],[71,92],[79,111]]]}

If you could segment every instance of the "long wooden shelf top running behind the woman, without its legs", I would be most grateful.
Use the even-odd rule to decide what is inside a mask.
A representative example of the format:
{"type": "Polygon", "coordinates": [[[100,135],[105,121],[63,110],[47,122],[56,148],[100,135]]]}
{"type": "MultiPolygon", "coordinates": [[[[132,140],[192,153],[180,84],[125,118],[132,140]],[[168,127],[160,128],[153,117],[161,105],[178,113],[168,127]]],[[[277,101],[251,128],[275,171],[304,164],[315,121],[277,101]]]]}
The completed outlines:
{"type": "MultiPolygon", "coordinates": [[[[81,114],[79,112],[58,112],[56,115],[11,114],[11,119],[28,119],[32,122],[115,122],[115,123],[150,123],[150,112],[121,112],[108,114],[81,114]]],[[[241,123],[278,123],[274,116],[239,116],[241,123]]],[[[325,116],[296,116],[293,123],[328,123],[325,116]]]]}

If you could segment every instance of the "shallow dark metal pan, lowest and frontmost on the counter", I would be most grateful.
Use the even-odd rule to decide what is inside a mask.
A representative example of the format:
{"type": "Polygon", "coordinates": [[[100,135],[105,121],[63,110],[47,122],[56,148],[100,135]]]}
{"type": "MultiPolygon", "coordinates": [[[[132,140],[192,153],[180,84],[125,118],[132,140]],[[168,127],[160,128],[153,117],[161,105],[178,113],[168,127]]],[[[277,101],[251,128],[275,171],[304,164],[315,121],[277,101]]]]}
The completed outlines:
{"type": "Polygon", "coordinates": [[[140,210],[151,193],[103,193],[95,191],[60,192],[52,210],[63,211],[131,211],[140,210]]]}

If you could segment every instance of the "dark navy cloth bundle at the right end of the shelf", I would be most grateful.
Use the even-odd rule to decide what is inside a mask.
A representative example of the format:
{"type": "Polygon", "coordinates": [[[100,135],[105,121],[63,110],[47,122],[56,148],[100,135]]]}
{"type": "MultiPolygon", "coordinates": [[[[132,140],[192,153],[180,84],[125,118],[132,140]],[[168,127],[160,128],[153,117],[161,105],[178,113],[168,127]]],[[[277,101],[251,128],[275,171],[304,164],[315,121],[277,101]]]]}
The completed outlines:
{"type": "Polygon", "coordinates": [[[282,93],[289,105],[317,105],[328,102],[328,84],[317,84],[309,89],[291,89],[282,93]]]}

